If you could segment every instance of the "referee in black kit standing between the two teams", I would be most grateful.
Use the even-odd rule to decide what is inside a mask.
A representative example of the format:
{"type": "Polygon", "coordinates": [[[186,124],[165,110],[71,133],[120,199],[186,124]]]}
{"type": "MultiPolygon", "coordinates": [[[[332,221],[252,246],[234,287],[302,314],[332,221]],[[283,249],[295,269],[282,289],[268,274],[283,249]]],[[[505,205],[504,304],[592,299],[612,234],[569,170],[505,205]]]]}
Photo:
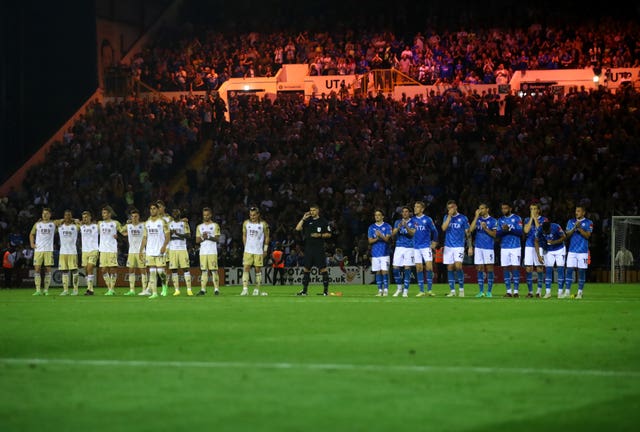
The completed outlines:
{"type": "Polygon", "coordinates": [[[320,216],[320,207],[317,204],[309,206],[309,211],[302,216],[296,225],[296,231],[302,231],[304,238],[304,275],[302,276],[302,291],[298,295],[307,295],[312,267],[317,267],[320,270],[324,287],[323,295],[329,295],[329,273],[324,241],[331,238],[331,227],[329,222],[320,216]]]}

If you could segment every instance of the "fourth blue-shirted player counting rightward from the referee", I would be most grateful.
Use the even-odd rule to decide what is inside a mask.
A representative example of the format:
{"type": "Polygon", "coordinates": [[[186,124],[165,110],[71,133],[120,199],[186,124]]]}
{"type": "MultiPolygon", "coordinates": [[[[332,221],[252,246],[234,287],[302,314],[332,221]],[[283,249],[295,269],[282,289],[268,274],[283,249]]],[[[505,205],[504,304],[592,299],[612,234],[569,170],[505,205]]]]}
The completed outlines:
{"type": "MultiPolygon", "coordinates": [[[[456,279],[458,280],[458,295],[464,297],[464,272],[462,261],[464,260],[464,243],[466,239],[471,242],[469,220],[463,214],[458,213],[458,204],[454,200],[447,201],[447,214],[442,222],[444,233],[444,253],[442,262],[447,266],[447,279],[449,282],[449,294],[447,297],[456,296],[456,279]]],[[[469,247],[473,253],[473,248],[469,247]]]]}

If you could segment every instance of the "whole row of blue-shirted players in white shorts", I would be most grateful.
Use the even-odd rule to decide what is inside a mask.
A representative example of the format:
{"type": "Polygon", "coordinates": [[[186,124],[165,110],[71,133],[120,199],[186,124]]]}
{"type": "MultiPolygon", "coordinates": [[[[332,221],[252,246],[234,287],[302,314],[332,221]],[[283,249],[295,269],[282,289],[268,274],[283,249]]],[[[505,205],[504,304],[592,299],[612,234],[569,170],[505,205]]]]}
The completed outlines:
{"type": "MultiPolygon", "coordinates": [[[[458,212],[455,201],[447,202],[447,214],[441,226],[444,234],[443,264],[447,266],[447,297],[464,297],[464,273],[462,262],[467,253],[474,257],[478,274],[479,292],[476,297],[492,297],[494,285],[495,246],[500,247],[500,265],[504,270],[505,297],[519,297],[522,241],[524,240],[524,265],[526,270],[527,297],[551,298],[553,269],[557,271],[558,298],[581,299],[589,264],[589,238],[593,222],[585,217],[586,209],[577,206],[575,217],[563,229],[542,216],[540,205],[531,204],[530,216],[524,221],[513,212],[509,203],[501,204],[502,216],[498,219],[489,213],[489,206],[481,203],[475,217],[468,218],[458,212]],[[568,248],[565,243],[568,242],[568,248]],[[568,249],[568,252],[567,252],[568,249]],[[533,273],[537,272],[537,291],[533,293],[533,273]],[[571,295],[577,274],[578,291],[571,295]],[[545,294],[542,296],[542,281],[545,294]],[[485,292],[485,282],[487,290],[485,292]],[[456,293],[455,285],[458,285],[456,293]]],[[[380,210],[374,212],[375,222],[369,226],[371,245],[371,269],[376,273],[378,296],[388,295],[390,246],[395,239],[392,269],[397,284],[394,297],[408,297],[412,267],[415,266],[419,292],[417,297],[433,296],[433,251],[438,244],[438,230],[433,219],[424,214],[425,204],[417,201],[413,215],[409,207],[403,207],[401,218],[393,228],[384,222],[380,210]],[[424,271],[426,270],[426,272],[424,271]],[[425,292],[426,273],[426,292],[425,292]]]]}

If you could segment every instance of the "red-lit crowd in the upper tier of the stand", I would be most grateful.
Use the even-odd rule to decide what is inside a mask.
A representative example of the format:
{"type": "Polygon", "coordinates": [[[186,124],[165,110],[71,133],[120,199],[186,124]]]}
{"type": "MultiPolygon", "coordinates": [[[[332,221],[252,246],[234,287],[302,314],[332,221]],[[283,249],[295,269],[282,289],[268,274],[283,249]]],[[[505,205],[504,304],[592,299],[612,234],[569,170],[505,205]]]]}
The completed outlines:
{"type": "Polygon", "coordinates": [[[640,26],[597,24],[435,30],[248,32],[166,28],[131,63],[159,91],[215,90],[229,78],[271,77],[283,64],[311,75],[362,75],[394,68],[421,84],[506,84],[516,71],[640,66],[640,26]]]}

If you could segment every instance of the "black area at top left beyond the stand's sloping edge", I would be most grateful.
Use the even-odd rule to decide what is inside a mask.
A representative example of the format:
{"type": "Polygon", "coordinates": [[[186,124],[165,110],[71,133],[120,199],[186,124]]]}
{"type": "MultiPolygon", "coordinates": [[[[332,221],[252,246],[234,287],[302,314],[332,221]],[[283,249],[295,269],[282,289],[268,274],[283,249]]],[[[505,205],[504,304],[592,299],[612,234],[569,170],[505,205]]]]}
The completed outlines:
{"type": "Polygon", "coordinates": [[[97,88],[92,1],[2,2],[0,182],[97,88]]]}

